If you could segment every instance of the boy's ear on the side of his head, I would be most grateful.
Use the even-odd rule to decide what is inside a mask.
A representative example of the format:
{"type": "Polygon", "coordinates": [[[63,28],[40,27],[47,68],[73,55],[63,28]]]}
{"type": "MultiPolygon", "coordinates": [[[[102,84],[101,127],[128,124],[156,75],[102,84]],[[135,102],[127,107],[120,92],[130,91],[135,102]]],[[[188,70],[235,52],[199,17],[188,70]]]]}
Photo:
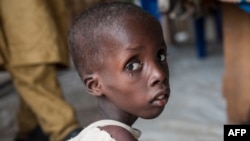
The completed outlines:
{"type": "Polygon", "coordinates": [[[101,96],[101,83],[96,74],[86,75],[83,80],[89,94],[93,96],[101,96]]]}

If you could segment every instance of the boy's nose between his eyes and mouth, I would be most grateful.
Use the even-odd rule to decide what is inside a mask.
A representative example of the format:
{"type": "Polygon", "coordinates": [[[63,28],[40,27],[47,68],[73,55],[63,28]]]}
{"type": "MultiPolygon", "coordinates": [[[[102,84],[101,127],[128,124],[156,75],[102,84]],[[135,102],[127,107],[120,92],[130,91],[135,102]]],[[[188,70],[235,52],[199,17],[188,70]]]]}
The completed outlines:
{"type": "Polygon", "coordinates": [[[149,86],[153,87],[158,84],[163,84],[166,81],[167,70],[163,66],[155,64],[150,72],[149,86]]]}

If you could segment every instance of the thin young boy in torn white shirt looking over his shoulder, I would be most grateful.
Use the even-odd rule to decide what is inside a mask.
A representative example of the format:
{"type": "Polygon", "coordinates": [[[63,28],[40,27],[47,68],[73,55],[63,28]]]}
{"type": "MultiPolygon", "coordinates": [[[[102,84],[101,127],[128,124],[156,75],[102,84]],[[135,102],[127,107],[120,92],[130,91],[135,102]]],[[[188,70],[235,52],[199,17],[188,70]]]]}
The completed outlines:
{"type": "Polygon", "coordinates": [[[68,36],[74,64],[99,119],[70,141],[136,141],[140,118],[161,114],[170,95],[160,23],[141,8],[106,3],[83,12],[68,36]]]}

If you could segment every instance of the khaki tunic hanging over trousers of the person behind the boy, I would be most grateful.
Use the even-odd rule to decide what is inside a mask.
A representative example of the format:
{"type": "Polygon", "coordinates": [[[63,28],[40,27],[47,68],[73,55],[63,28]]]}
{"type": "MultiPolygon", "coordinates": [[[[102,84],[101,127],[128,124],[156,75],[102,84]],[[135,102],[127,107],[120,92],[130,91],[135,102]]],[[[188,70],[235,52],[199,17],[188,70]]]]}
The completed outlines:
{"type": "Polygon", "coordinates": [[[63,0],[0,0],[0,67],[69,66],[63,0]]]}

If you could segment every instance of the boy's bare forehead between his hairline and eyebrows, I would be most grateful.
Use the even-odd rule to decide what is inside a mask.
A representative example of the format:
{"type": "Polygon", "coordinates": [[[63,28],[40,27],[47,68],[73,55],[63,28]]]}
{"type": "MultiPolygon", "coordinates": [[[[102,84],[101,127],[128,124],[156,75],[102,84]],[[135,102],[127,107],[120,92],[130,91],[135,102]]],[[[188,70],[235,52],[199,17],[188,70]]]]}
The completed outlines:
{"type": "Polygon", "coordinates": [[[116,51],[131,46],[131,44],[141,44],[144,42],[143,39],[157,42],[155,37],[163,38],[161,27],[157,21],[148,18],[145,24],[143,19],[125,17],[105,28],[102,34],[105,50],[116,51]],[[117,46],[117,44],[122,46],[117,46]]]}

